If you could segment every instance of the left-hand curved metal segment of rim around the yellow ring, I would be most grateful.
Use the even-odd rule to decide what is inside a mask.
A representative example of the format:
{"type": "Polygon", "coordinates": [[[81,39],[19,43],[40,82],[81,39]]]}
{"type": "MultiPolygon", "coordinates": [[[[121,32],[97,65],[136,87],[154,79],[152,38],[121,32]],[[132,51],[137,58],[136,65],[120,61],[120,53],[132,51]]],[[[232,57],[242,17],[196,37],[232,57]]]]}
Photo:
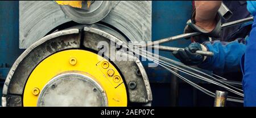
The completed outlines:
{"type": "MultiPolygon", "coordinates": [[[[49,34],[34,43],[16,59],[3,86],[3,97],[7,94],[22,95],[24,84],[35,66],[57,51],[80,46],[79,29],[62,30],[49,34]],[[43,44],[43,45],[42,45],[43,44]]],[[[6,98],[9,100],[9,98],[6,98]]],[[[6,101],[8,102],[8,101],[6,101]]]]}

